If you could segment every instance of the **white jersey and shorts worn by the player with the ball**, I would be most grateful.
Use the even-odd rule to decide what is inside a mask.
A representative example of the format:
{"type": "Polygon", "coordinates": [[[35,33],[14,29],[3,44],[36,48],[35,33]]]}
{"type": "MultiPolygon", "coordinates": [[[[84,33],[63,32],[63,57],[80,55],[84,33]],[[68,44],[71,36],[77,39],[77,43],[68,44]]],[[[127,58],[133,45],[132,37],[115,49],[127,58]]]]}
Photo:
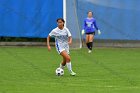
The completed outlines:
{"type": "Polygon", "coordinates": [[[57,27],[49,33],[49,36],[55,38],[56,50],[59,54],[64,50],[69,54],[68,37],[71,37],[71,33],[68,28],[64,27],[61,30],[57,27]]]}

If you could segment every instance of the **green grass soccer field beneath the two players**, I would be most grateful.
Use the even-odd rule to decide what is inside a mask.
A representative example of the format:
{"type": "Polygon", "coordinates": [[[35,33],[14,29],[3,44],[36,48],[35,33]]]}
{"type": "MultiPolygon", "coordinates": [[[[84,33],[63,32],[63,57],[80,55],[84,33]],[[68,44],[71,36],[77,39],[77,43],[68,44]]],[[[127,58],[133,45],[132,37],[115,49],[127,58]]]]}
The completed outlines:
{"type": "Polygon", "coordinates": [[[0,47],[0,93],[140,93],[140,48],[71,50],[73,70],[55,76],[61,57],[44,47],[0,47]]]}

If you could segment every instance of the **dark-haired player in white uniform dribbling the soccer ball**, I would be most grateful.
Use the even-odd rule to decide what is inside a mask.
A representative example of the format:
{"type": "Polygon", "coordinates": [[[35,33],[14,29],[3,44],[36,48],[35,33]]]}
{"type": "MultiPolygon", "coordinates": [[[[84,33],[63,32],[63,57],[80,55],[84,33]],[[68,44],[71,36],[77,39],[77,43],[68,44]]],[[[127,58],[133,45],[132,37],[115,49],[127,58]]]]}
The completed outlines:
{"type": "Polygon", "coordinates": [[[51,50],[49,41],[50,37],[55,37],[55,46],[58,54],[60,54],[63,58],[62,63],[60,63],[60,68],[64,69],[64,66],[67,65],[67,68],[70,72],[70,75],[75,76],[76,73],[72,71],[72,66],[71,66],[71,58],[69,55],[69,44],[72,43],[72,37],[71,33],[68,28],[64,27],[64,19],[59,18],[57,19],[57,25],[55,29],[53,29],[50,33],[49,36],[47,37],[47,47],[48,50],[51,50]]]}

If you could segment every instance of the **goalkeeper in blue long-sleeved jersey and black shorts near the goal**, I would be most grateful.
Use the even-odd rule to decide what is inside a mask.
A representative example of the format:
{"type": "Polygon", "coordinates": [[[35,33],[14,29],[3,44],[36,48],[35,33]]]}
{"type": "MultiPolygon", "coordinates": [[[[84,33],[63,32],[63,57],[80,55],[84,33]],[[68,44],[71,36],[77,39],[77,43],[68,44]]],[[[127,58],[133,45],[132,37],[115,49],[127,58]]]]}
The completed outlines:
{"type": "Polygon", "coordinates": [[[92,52],[92,44],[94,40],[95,30],[98,30],[98,34],[101,34],[100,30],[96,25],[96,20],[93,18],[92,11],[88,12],[88,17],[84,20],[84,28],[82,35],[86,33],[86,45],[89,49],[88,53],[92,52]]]}

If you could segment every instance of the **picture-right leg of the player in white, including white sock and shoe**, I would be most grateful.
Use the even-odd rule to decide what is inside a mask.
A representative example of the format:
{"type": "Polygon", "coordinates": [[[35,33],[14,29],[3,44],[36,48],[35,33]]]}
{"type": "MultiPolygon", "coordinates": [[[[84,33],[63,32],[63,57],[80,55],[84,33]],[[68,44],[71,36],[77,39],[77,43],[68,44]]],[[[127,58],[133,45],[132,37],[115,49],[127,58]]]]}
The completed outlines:
{"type": "Polygon", "coordinates": [[[75,76],[76,73],[74,73],[74,72],[72,71],[71,58],[70,58],[70,56],[67,54],[66,51],[61,52],[61,56],[65,58],[65,60],[66,60],[66,65],[67,65],[67,68],[68,68],[70,74],[71,74],[72,76],[75,76]]]}

